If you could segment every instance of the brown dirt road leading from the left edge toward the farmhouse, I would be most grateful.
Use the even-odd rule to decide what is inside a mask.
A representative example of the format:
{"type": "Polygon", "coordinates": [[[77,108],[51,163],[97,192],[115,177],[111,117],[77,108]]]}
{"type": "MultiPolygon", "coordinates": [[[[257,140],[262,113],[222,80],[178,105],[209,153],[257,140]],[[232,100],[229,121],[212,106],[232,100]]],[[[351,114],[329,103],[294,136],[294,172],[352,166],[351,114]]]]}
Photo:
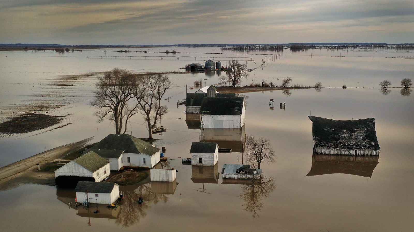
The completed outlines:
{"type": "Polygon", "coordinates": [[[53,173],[38,171],[36,164],[39,163],[42,165],[44,163],[51,162],[54,159],[62,158],[66,154],[84,147],[84,145],[92,139],[93,137],[90,137],[79,142],[56,147],[0,168],[0,189],[5,189],[5,185],[9,183],[15,184],[16,181],[12,181],[15,179],[20,179],[19,182],[32,182],[30,178],[37,178],[43,181],[50,179],[51,177],[54,178],[53,173]]]}

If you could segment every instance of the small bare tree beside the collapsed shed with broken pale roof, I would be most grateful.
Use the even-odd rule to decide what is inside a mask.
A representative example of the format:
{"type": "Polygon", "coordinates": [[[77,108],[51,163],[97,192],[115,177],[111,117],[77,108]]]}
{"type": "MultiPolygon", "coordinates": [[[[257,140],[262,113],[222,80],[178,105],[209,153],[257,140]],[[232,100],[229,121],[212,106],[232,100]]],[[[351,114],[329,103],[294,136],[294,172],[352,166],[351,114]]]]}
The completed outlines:
{"type": "Polygon", "coordinates": [[[254,135],[248,135],[246,138],[245,156],[248,163],[253,166],[257,164],[258,168],[260,168],[262,161],[274,163],[277,158],[270,141],[263,137],[257,139],[254,135]]]}

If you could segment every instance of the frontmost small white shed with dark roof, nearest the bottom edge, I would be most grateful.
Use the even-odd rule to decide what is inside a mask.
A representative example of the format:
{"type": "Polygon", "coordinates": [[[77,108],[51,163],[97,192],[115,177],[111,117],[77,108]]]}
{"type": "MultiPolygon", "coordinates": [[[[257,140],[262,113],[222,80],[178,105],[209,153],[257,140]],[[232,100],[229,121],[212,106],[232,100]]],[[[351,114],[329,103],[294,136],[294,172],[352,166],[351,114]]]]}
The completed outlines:
{"type": "Polygon", "coordinates": [[[112,204],[118,199],[119,185],[107,182],[79,181],[75,188],[77,202],[112,204]]]}

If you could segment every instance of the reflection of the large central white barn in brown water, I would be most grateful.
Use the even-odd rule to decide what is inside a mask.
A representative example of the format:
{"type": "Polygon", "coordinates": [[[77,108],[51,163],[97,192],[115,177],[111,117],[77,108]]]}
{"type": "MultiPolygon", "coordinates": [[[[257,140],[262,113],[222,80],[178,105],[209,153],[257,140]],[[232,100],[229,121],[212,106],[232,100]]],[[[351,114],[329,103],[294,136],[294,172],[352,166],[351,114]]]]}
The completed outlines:
{"type": "Polygon", "coordinates": [[[219,152],[231,149],[231,152],[244,152],[246,144],[246,124],[241,128],[201,128],[200,142],[217,142],[219,152]]]}

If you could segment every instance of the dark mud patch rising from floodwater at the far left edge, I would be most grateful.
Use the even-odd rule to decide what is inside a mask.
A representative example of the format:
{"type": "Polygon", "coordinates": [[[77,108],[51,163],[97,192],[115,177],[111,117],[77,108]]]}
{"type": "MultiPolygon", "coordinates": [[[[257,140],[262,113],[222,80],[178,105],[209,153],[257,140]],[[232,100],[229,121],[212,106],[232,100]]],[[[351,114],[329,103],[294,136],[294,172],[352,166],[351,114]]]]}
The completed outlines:
{"type": "Polygon", "coordinates": [[[0,123],[0,133],[28,133],[45,129],[60,123],[65,116],[50,116],[46,114],[22,114],[0,123]]]}

